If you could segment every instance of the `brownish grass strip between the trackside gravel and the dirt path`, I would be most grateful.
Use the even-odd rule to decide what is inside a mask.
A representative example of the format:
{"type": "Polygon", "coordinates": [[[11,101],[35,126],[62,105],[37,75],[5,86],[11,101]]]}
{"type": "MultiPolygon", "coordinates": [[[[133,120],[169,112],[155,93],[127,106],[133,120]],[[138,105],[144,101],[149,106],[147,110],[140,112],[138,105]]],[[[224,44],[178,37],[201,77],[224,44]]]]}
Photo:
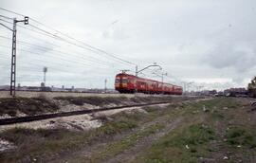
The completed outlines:
{"type": "Polygon", "coordinates": [[[84,144],[132,130],[138,125],[156,118],[156,115],[157,112],[151,114],[120,112],[112,116],[111,120],[106,120],[100,128],[82,132],[71,132],[64,129],[10,129],[1,133],[0,137],[13,142],[18,148],[11,153],[0,154],[0,159],[15,162],[16,159],[21,160],[27,155],[32,158],[58,154],[66,150],[76,150],[82,148],[84,144]]]}

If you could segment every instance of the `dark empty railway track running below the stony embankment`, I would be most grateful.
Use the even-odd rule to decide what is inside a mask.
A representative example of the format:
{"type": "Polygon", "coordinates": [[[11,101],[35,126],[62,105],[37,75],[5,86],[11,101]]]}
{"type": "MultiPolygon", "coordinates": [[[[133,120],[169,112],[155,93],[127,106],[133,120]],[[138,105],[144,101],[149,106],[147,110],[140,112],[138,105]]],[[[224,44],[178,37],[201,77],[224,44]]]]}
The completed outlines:
{"type": "Polygon", "coordinates": [[[108,111],[108,110],[117,110],[117,109],[140,107],[140,106],[150,106],[150,105],[165,104],[165,103],[171,103],[171,101],[115,106],[110,108],[103,107],[100,109],[87,109],[87,110],[61,112],[61,113],[53,113],[53,114],[45,114],[45,115],[37,115],[37,116],[26,116],[26,117],[20,117],[20,118],[3,118],[3,119],[0,119],[0,126],[15,124],[15,123],[30,122],[30,121],[36,121],[36,120],[44,120],[48,118],[63,118],[63,117],[84,115],[84,114],[90,114],[90,113],[96,113],[96,112],[102,112],[102,111],[108,111]]]}

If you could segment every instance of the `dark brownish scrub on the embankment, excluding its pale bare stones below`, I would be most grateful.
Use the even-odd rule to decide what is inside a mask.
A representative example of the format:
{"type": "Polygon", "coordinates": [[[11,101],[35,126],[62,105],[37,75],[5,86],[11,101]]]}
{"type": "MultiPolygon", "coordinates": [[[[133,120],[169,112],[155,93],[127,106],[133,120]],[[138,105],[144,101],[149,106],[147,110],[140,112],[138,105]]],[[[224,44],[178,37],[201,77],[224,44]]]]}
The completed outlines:
{"type": "MultiPolygon", "coordinates": [[[[172,97],[56,97],[53,100],[46,97],[38,98],[6,98],[0,99],[0,116],[7,114],[11,117],[17,116],[17,113],[26,115],[37,115],[41,113],[55,112],[60,109],[60,104],[56,100],[65,101],[63,104],[75,104],[82,106],[83,104],[91,104],[96,106],[105,106],[108,104],[124,105],[127,102],[142,103],[173,100],[172,97]]],[[[64,104],[64,105],[65,105],[64,104]]]]}

